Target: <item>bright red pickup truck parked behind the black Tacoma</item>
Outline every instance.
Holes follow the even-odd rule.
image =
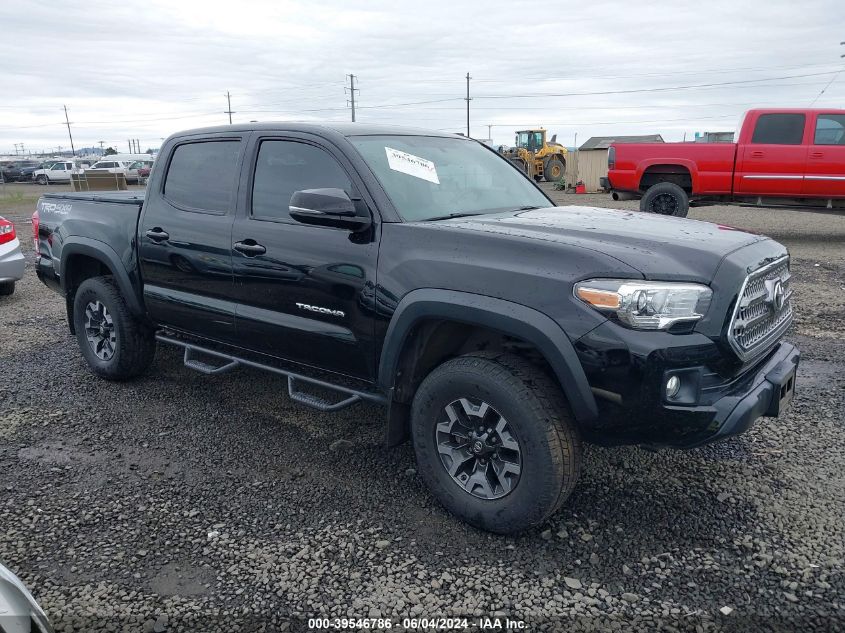
[[[690,200],[845,206],[845,110],[749,110],[736,143],[615,143],[605,188],[640,210]]]

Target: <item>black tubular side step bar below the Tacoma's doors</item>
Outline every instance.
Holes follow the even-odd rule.
[[[304,404],[305,406],[311,407],[312,409],[317,409],[318,411],[338,411],[340,409],[345,409],[346,407],[353,405],[356,402],[361,402],[362,400],[367,400],[369,402],[381,405],[387,404],[387,397],[380,393],[374,393],[371,391],[360,391],[358,389],[352,389],[350,387],[336,385],[330,382],[326,382],[325,380],[319,380],[317,378],[311,378],[310,376],[304,376],[302,374],[298,374],[287,369],[280,369],[278,367],[273,367],[272,365],[265,365],[263,363],[257,363],[252,360],[247,360],[246,358],[240,358],[238,356],[226,354],[225,352],[219,352],[214,349],[209,349],[207,347],[197,345],[196,343],[189,343],[188,341],[183,341],[181,339],[173,338],[171,336],[167,336],[161,333],[156,334],[156,340],[161,343],[166,343],[168,345],[175,345],[176,347],[184,348],[185,367],[198,371],[202,374],[206,374],[208,376],[225,374],[226,372],[229,372],[240,366],[252,367],[253,369],[260,369],[262,371],[268,371],[273,374],[280,374],[282,376],[286,376],[288,379],[288,395],[290,396],[291,400],[299,402],[300,404]],[[200,360],[198,356],[211,356],[213,358],[219,358],[224,362],[221,365],[212,365],[203,360]],[[313,394],[301,391],[297,388],[297,381],[309,385],[315,385],[317,387],[321,387],[322,389],[336,391],[345,395],[346,397],[342,400],[339,400],[338,402],[330,402],[324,398],[321,398],[320,396],[315,396]]]

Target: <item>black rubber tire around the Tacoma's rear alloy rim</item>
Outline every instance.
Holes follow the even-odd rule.
[[[104,306],[111,322],[113,341],[98,352],[89,342],[86,313],[91,306]],[[128,380],[146,371],[155,356],[153,331],[138,321],[129,311],[120,289],[112,277],[92,277],[82,282],[73,300],[73,325],[82,356],[91,370],[107,380]],[[100,331],[103,331],[102,329]],[[109,355],[109,351],[111,354]]]

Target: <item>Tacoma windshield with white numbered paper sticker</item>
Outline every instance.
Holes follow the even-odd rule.
[[[459,138],[353,136],[406,222],[553,204],[498,154]]]

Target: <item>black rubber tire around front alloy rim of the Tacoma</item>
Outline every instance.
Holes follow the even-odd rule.
[[[521,470],[516,482],[511,483],[512,488],[501,496],[479,498],[476,485],[469,483],[477,476],[478,465],[473,467],[467,482],[465,472],[455,478],[441,459],[443,438],[452,441],[457,437],[443,431],[451,417],[447,407],[462,398],[471,405],[487,403],[495,414],[493,422],[487,418],[475,420],[481,419],[482,425],[491,424],[496,429],[496,421],[504,420],[504,428],[511,432],[510,441],[515,439],[518,445]],[[563,393],[555,381],[518,356],[480,354],[446,361],[423,380],[411,412],[411,434],[420,474],[447,510],[478,528],[511,534],[537,526],[560,508],[578,479],[581,441]],[[472,453],[471,440],[467,442],[463,450]],[[503,440],[498,442],[504,450]],[[495,457],[498,456],[496,452]],[[482,463],[485,472],[493,469],[493,459]],[[459,478],[467,483],[460,484]],[[489,475],[485,479],[489,481]],[[473,492],[467,490],[467,485]],[[495,491],[492,486],[488,489]]]

